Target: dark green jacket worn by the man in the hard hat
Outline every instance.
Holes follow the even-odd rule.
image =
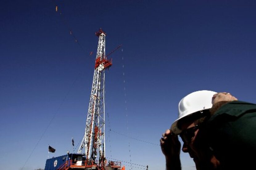
[[[222,169],[256,169],[256,105],[223,105],[206,125],[210,147]]]

